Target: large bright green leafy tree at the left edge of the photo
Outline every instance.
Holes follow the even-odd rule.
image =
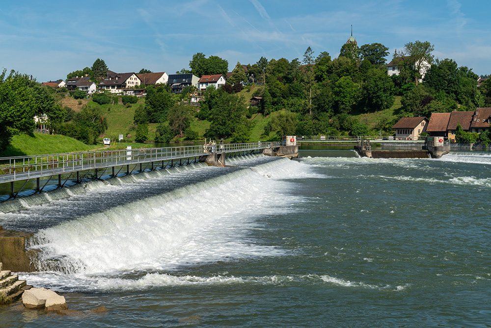
[[[14,135],[30,133],[34,128],[36,101],[27,87],[27,76],[13,70],[5,78],[0,74],[0,151],[3,151]]]

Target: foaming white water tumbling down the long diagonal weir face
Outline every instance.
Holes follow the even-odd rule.
[[[31,247],[42,251],[44,271],[24,278],[63,290],[139,288],[181,284],[171,273],[185,266],[283,256],[249,231],[302,201],[284,179],[308,176],[305,168],[274,161],[43,229]],[[128,274],[139,278],[122,278]]]

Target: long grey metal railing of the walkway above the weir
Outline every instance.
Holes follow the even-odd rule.
[[[118,149],[0,158],[0,183],[113,166],[279,147],[279,142]]]

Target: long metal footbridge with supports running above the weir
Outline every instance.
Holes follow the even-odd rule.
[[[243,144],[209,142],[201,146],[143,149],[128,147],[119,150],[3,157],[0,158],[0,184],[10,183],[10,194],[7,199],[12,199],[19,195],[27,181],[31,179],[36,181],[35,192],[40,193],[52,179],[57,179],[56,186],[61,188],[69,180],[80,183],[89,174],[91,179],[101,179],[105,174],[116,177],[196,162],[225,166],[226,157],[254,153],[281,155],[278,154],[278,149],[282,146],[284,146],[282,142]]]

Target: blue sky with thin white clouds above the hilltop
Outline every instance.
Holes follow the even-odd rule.
[[[63,79],[98,58],[110,70],[141,68],[173,74],[193,54],[253,64],[331,58],[351,35],[358,46],[394,51],[429,41],[436,58],[450,58],[478,75],[491,73],[489,0],[141,0],[1,1],[0,69],[38,82]]]

